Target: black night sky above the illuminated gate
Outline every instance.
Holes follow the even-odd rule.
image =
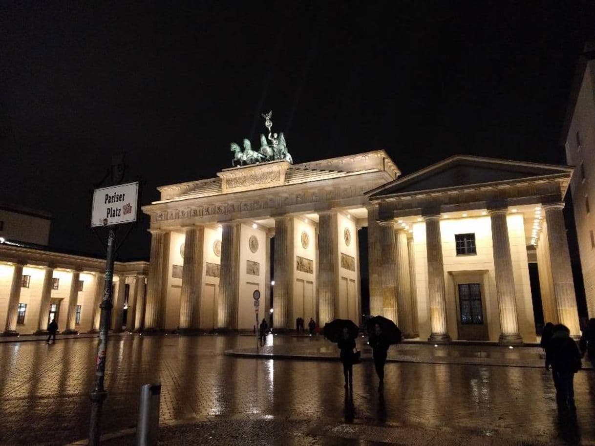
[[[83,4],[84,3],[84,4]],[[0,4],[0,201],[101,253],[89,190],[123,150],[156,186],[214,177],[273,109],[295,162],[386,149],[558,163],[592,2]],[[369,3],[369,4],[365,4]],[[122,258],[148,256],[143,221]]]

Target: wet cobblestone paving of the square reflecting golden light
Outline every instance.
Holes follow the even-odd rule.
[[[275,337],[274,342],[312,341]],[[253,343],[253,338],[245,336],[110,338],[109,396],[102,432],[134,426],[140,386],[161,382],[164,422],[208,417],[224,428],[233,425],[231,420],[308,426],[353,422],[404,429],[447,428],[461,432],[465,444],[465,435],[478,433],[486,438],[531,438],[536,443],[572,438],[595,443],[595,373],[591,370],[575,378],[578,410],[574,426],[558,416],[546,370],[390,363],[381,399],[375,391],[373,366],[363,363],[355,366],[353,403],[346,404],[339,363],[223,355]],[[92,339],[63,340],[53,346],[0,344],[0,444],[61,445],[86,436],[95,346]],[[241,432],[241,425],[237,426],[235,432]],[[300,444],[340,444],[331,442],[332,436],[320,435],[330,442],[308,442],[305,435]],[[437,444],[431,438],[428,441]]]

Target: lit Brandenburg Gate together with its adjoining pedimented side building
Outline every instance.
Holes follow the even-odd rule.
[[[252,330],[255,290],[276,329],[361,321],[367,227],[370,312],[406,337],[534,341],[529,262],[546,321],[578,334],[562,215],[572,168],[453,156],[399,175],[376,150],[159,187],[142,208],[152,241],[137,329]]]

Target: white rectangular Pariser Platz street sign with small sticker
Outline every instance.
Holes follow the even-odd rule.
[[[138,196],[139,183],[95,189],[91,226],[121,225],[136,221]]]

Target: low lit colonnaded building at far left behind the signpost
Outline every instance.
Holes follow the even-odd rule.
[[[148,262],[115,262],[111,315],[114,332],[142,326],[148,266]],[[62,333],[98,331],[104,284],[105,259],[2,238],[1,334],[45,333],[54,319]]]

